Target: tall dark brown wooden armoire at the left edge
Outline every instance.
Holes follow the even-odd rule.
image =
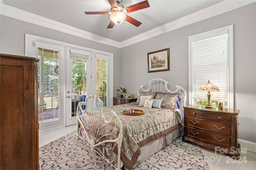
[[[38,170],[38,59],[0,54],[0,169]]]

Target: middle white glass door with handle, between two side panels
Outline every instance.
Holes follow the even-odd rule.
[[[76,107],[91,94],[91,52],[66,47],[66,126],[76,124]]]

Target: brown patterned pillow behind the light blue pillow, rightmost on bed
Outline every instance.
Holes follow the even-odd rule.
[[[166,93],[158,92],[156,94],[155,99],[163,99],[161,107],[175,109],[175,105],[179,95],[180,94],[166,94]]]

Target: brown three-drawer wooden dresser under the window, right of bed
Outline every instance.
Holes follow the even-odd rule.
[[[204,106],[184,106],[184,135],[182,140],[239,158],[237,142],[238,109],[220,110]]]

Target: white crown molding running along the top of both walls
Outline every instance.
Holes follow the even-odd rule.
[[[72,27],[70,25],[66,25],[64,23],[50,20],[48,18],[44,18],[42,16],[38,16],[38,15],[32,14],[30,12],[26,12],[24,10],[20,10],[20,9],[14,8],[12,6],[8,6],[8,5],[4,4],[2,0],[0,0],[0,6],[1,6],[0,14],[4,15],[4,16],[11,17],[11,18],[15,18],[18,20],[33,23],[36,25],[40,25],[43,27],[47,27],[50,29],[54,29],[57,31],[61,31],[64,33],[68,33],[68,34],[71,34],[71,35],[74,35],[77,37],[82,37],[84,39],[88,39],[91,41],[96,41],[98,43],[110,45],[110,46],[117,47],[117,48],[122,48],[122,47],[126,47],[128,45],[132,45],[134,43],[138,43],[140,41],[144,41],[146,39],[150,39],[157,35],[161,35],[163,33],[169,32],[169,31],[173,31],[180,27],[184,27],[186,25],[196,23],[198,21],[202,21],[207,18],[217,16],[219,14],[223,14],[230,10],[234,10],[234,9],[240,8],[242,6],[246,6],[246,5],[254,3],[254,2],[256,2],[256,0],[224,0],[222,2],[214,4],[207,8],[204,8],[202,10],[199,10],[197,12],[194,12],[192,14],[189,14],[187,16],[179,18],[177,20],[166,23],[160,27],[151,29],[150,31],[147,31],[140,35],[136,35],[136,36],[134,36],[130,39],[124,40],[122,42],[114,41],[112,39],[108,39],[108,38],[90,33],[88,31],[84,31],[82,29],[78,29],[78,28]]]

